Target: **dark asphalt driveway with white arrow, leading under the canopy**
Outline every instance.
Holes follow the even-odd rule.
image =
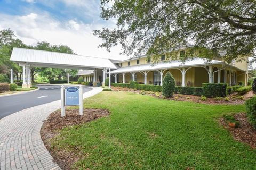
[[[0,119],[23,109],[60,100],[60,85],[40,85],[40,89],[25,94],[0,97]],[[65,86],[69,87],[69,86]],[[83,92],[91,88],[84,87]]]

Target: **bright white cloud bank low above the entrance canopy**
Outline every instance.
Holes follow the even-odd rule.
[[[124,60],[127,56],[119,55],[121,47],[117,46],[107,52],[98,48],[100,38],[93,36],[92,30],[103,27],[99,24],[84,24],[76,19],[65,23],[53,19],[47,13],[30,13],[23,16],[12,16],[0,13],[0,30],[11,28],[25,44],[36,45],[38,41],[47,41],[52,45],[67,45],[76,54],[114,58]]]

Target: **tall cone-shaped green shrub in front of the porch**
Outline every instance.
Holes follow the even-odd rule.
[[[175,91],[175,80],[170,72],[167,72],[163,79],[163,96],[172,97]]]

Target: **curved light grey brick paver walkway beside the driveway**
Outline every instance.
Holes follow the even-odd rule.
[[[102,88],[93,88],[83,98]],[[28,101],[29,102],[29,101]],[[0,106],[1,107],[1,106]],[[60,169],[41,139],[43,121],[60,108],[60,100],[31,107],[0,120],[0,169]]]

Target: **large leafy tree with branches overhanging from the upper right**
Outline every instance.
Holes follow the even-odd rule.
[[[94,30],[108,51],[122,45],[127,55],[162,54],[189,47],[192,56],[228,62],[250,56],[256,46],[256,2],[248,0],[101,0],[101,17],[117,28]],[[193,44],[190,46],[187,42]],[[167,55],[170,59],[177,55]]]

